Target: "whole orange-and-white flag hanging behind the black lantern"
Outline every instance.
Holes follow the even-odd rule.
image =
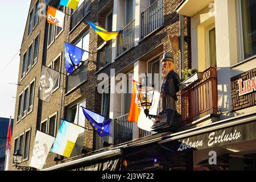
[[[149,94],[149,93],[148,93]],[[160,93],[157,90],[154,90],[154,96],[152,98],[152,105],[149,109],[150,114],[156,115],[158,111]],[[131,106],[128,121],[137,122],[137,126],[146,131],[151,131],[151,127],[154,125],[154,120],[146,117],[144,109],[141,106],[139,99],[139,90],[137,84],[133,82],[133,93],[131,96]]]

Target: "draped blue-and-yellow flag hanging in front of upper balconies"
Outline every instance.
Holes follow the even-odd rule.
[[[105,41],[111,40],[113,39],[115,36],[117,36],[119,34],[119,32],[121,30],[118,31],[108,31],[105,30],[104,28],[97,26],[97,24],[94,24],[92,22],[90,22],[89,20],[85,20],[92,28],[93,30],[101,36],[101,38]]]

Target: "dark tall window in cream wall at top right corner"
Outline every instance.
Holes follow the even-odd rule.
[[[256,55],[256,1],[241,1],[242,16],[242,59]]]

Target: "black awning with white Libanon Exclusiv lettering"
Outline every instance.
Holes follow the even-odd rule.
[[[169,135],[159,144],[168,146],[172,151],[190,151],[222,146],[225,144],[256,139],[256,114],[231,121],[213,123],[204,129],[180,135]]]

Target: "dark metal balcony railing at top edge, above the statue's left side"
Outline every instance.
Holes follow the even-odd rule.
[[[163,0],[158,0],[141,14],[141,38],[163,24]]]

